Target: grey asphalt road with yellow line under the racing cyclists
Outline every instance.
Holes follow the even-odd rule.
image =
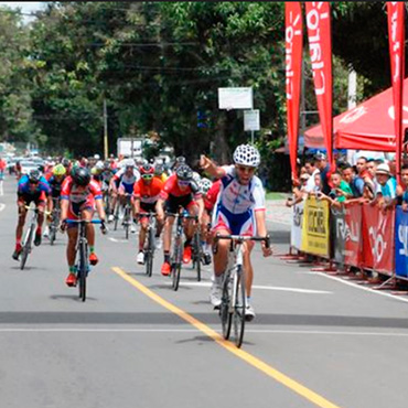
[[[66,237],[44,240],[21,271],[11,258],[15,181],[0,196],[0,407],[211,406],[405,408],[408,297],[374,292],[257,247],[254,307],[241,350],[221,337],[211,269],[178,292],[136,265],[136,236],[97,234],[85,303],[67,288]],[[273,211],[273,210],[271,210]],[[268,227],[275,250],[289,226]]]

